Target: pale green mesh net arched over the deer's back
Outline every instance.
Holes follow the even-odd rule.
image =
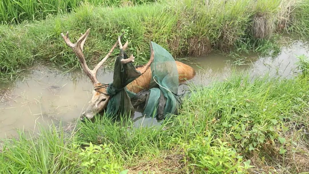
[[[177,107],[178,70],[172,55],[160,45],[151,42],[154,50],[154,61],[151,64],[152,78],[150,81],[150,96],[144,114],[155,117],[162,108],[159,106],[161,93],[166,98],[163,116],[174,114]]]

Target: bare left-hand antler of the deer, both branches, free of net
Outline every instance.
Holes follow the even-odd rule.
[[[87,76],[91,79],[91,82],[93,84],[95,83],[99,83],[98,79],[96,78],[96,74],[99,70],[99,68],[103,65],[103,63],[106,61],[106,59],[112,54],[112,52],[114,51],[114,49],[116,48],[117,44],[119,43],[119,41],[117,41],[112,49],[108,52],[108,54],[94,67],[93,70],[90,70],[86,64],[85,61],[85,56],[83,54],[83,47],[85,44],[85,41],[87,39],[87,36],[89,35],[90,32],[90,28],[85,32],[85,34],[81,34],[80,38],[77,40],[77,42],[75,44],[73,44],[70,39],[69,39],[69,32],[66,32],[66,36],[64,36],[63,33],[61,33],[61,36],[63,37],[64,41],[66,42],[66,44],[71,47],[74,51],[74,53],[76,54],[76,56],[79,59],[79,62],[82,65],[83,71],[87,74]],[[122,33],[121,36],[118,37],[118,40],[120,40],[120,38],[124,35],[125,32]],[[127,44],[127,43],[126,43]],[[127,46],[127,45],[125,45]],[[122,45],[121,45],[122,47]]]

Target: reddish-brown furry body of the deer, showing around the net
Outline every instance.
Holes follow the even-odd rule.
[[[193,79],[195,76],[195,70],[182,62],[176,61],[178,75],[179,75],[179,83],[184,83],[187,80]],[[138,66],[136,70],[142,69],[143,66]],[[129,91],[134,93],[138,93],[143,89],[148,89],[151,79],[151,69],[148,68],[144,74],[142,74],[139,78],[130,83],[127,88]]]

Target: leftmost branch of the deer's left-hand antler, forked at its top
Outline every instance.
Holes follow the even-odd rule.
[[[93,84],[95,84],[95,83],[99,83],[99,81],[96,78],[96,74],[94,74],[88,68],[86,61],[85,61],[84,54],[83,54],[83,47],[84,47],[85,41],[87,39],[87,36],[89,35],[89,32],[90,32],[90,28],[85,32],[85,34],[83,34],[82,36],[79,37],[79,39],[77,40],[77,42],[75,44],[73,44],[70,41],[69,32],[66,32],[66,36],[64,36],[63,33],[61,33],[61,36],[64,39],[64,41],[66,42],[66,44],[73,49],[74,53],[76,54],[76,56],[79,59],[79,62],[81,63],[81,66],[82,66],[84,72],[90,78],[91,82]]]

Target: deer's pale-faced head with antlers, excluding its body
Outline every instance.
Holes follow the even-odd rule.
[[[121,36],[118,36],[117,42],[114,44],[112,49],[109,51],[109,53],[94,67],[93,70],[90,70],[89,67],[86,64],[85,56],[83,54],[83,47],[85,44],[85,41],[87,39],[87,36],[89,35],[90,28],[85,32],[85,34],[81,34],[80,38],[77,40],[75,44],[73,44],[69,39],[69,32],[66,33],[66,36],[61,33],[61,36],[63,37],[65,43],[71,47],[76,54],[76,56],[79,59],[79,62],[81,63],[83,71],[87,74],[87,76],[90,78],[94,89],[92,91],[92,98],[89,101],[88,108],[83,112],[81,116],[81,120],[83,120],[85,117],[91,119],[96,113],[99,113],[104,110],[104,108],[107,107],[108,101],[110,99],[110,95],[106,92],[106,87],[108,85],[104,85],[99,83],[98,79],[96,78],[96,74],[99,70],[99,68],[103,65],[103,63],[106,61],[106,59],[112,54],[113,50],[116,48],[116,46],[119,44],[120,49],[126,49],[128,46],[128,41],[125,43],[125,45],[122,46],[121,44]],[[128,59],[122,59],[121,63],[129,63],[134,62],[133,55],[130,56]]]

